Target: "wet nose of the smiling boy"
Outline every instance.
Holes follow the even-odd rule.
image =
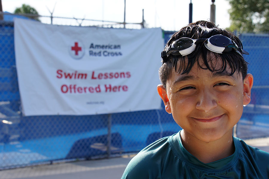
[[[211,109],[217,107],[217,101],[214,94],[208,90],[201,92],[201,95],[198,95],[198,102],[196,104],[196,109],[203,110],[205,112],[210,111]]]

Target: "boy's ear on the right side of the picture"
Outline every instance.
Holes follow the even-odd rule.
[[[244,91],[243,91],[243,105],[250,103],[251,88],[253,85],[253,76],[248,73],[243,81]]]

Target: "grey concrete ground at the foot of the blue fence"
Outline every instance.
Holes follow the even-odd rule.
[[[269,152],[269,138],[244,140]],[[135,155],[91,161],[77,161],[0,171],[0,179],[119,179]]]

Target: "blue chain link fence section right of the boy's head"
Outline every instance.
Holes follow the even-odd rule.
[[[269,136],[269,34],[242,34],[248,72],[254,77],[251,101],[237,124],[237,137],[242,139]]]

